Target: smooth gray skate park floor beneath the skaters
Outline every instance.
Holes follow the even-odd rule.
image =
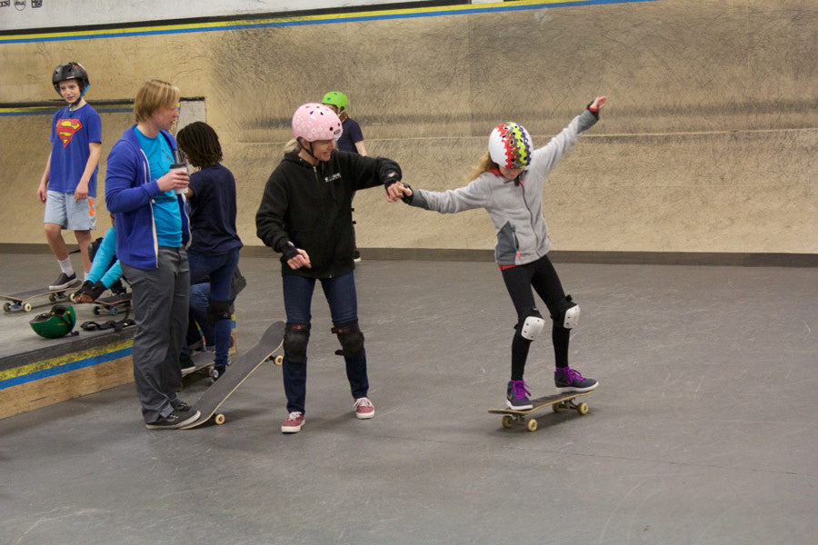
[[[0,263],[0,289],[55,268]],[[20,266],[25,263],[25,269]],[[284,319],[278,263],[243,259],[239,352]],[[818,272],[558,264],[583,307],[587,416],[504,430],[514,312],[491,263],[364,261],[372,421],[356,421],[314,298],[307,420],[280,368],[228,421],[147,431],[133,385],[0,421],[3,543],[818,542]],[[85,311],[83,311],[85,312]],[[0,317],[0,341],[30,335]],[[553,388],[550,341],[526,381]],[[184,397],[195,399],[205,381]]]

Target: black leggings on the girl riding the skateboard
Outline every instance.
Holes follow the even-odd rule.
[[[536,309],[531,288],[534,287],[534,291],[543,299],[551,315],[556,314],[554,308],[558,302],[565,299],[565,292],[560,277],[557,276],[554,265],[547,255],[534,263],[504,269],[503,281],[517,311],[517,326],[512,341],[512,381],[522,381],[531,341],[520,334],[520,329],[526,316],[530,316]],[[562,323],[554,322],[551,339],[554,342],[554,362],[557,367],[568,367],[570,335],[571,331],[565,329]]]

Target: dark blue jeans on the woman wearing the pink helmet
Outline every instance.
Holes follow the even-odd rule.
[[[329,303],[333,323],[354,322],[358,319],[358,298],[355,293],[354,273],[338,278],[321,278],[324,297]],[[315,289],[314,278],[286,275],[282,278],[284,287],[284,309],[287,324],[308,324],[312,318],[310,306]],[[369,391],[366,376],[366,351],[358,356],[344,356],[346,378],[355,399],[365,397]],[[284,394],[287,396],[287,411],[304,412],[306,401],[306,358],[304,362],[290,362],[284,355],[282,364]]]

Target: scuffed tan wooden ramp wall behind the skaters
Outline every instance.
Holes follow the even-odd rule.
[[[555,250],[818,252],[818,5],[547,7],[5,43],[0,63],[14,77],[0,95],[7,103],[55,98],[47,74],[67,55],[89,70],[92,104],[133,98],[150,77],[204,97],[252,251],[254,213],[290,116],[325,91],[350,97],[371,154],[394,158],[407,183],[430,190],[468,180],[495,124],[524,124],[535,145],[545,144],[605,94],[601,123],[546,185]],[[104,155],[130,123],[127,114],[103,114]],[[46,137],[47,116],[0,117],[0,190],[10,197],[0,203],[0,243],[43,243],[35,190]],[[359,193],[354,207],[364,249],[494,247],[482,211],[387,205],[380,190]]]

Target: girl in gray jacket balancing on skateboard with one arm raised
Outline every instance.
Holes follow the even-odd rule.
[[[591,391],[594,379],[568,366],[568,341],[579,320],[580,308],[566,295],[548,259],[551,240],[543,217],[543,188],[546,175],[570,150],[580,134],[599,119],[605,103],[598,96],[585,111],[574,117],[548,144],[533,149],[531,136],[522,125],[504,123],[489,136],[489,151],[478,164],[474,179],[464,187],[446,192],[413,190],[399,183],[404,202],[439,213],[457,213],[485,208],[494,222],[497,244],[494,258],[503,274],[505,287],[517,311],[512,341],[511,381],[506,388],[510,409],[531,409],[523,373],[531,342],[545,329],[532,288],[545,302],[553,321],[554,385],[559,391]]]

